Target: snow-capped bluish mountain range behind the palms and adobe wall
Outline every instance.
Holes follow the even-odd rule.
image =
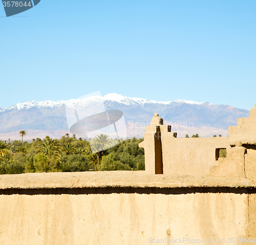
[[[196,128],[211,127],[228,129],[236,125],[237,118],[249,117],[249,111],[229,105],[215,105],[208,102],[175,100],[157,102],[140,98],[129,98],[118,94],[93,96],[82,100],[29,101],[9,108],[0,107],[0,133],[15,130],[69,130],[65,107],[75,103],[94,108],[103,103],[106,109],[121,110],[126,124],[148,124],[154,113],[164,121],[176,125],[193,125]],[[171,124],[172,125],[172,124]]]

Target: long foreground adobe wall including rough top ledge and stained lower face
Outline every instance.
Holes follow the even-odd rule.
[[[256,236],[250,179],[27,173],[2,175],[0,188],[0,244],[223,244]]]

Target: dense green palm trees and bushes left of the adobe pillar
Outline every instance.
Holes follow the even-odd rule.
[[[32,143],[1,140],[0,174],[145,169],[144,149],[138,147],[143,139],[127,139],[105,149],[115,141],[99,135],[90,144],[68,133],[60,140],[46,137]]]

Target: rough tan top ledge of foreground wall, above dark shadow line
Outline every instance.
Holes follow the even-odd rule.
[[[93,187],[255,187],[254,179],[240,176],[191,176],[144,171],[23,173],[0,175],[0,190]]]

